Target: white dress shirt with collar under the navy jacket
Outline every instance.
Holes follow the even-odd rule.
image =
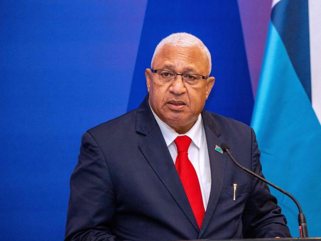
[[[161,121],[161,119],[155,114],[153,110],[152,113],[161,128],[161,133],[165,139],[169,153],[175,163],[177,157],[177,148],[174,140],[177,136],[180,136],[180,134],[174,131],[165,122]],[[204,209],[206,210],[211,189],[211,172],[209,166],[206,136],[201,114],[199,115],[193,127],[183,135],[187,135],[192,139],[191,145],[188,149],[188,158],[192,162],[199,178]]]

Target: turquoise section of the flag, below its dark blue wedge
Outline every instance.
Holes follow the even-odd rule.
[[[271,22],[267,44],[252,118],[264,173],[301,203],[309,236],[320,236],[321,126]],[[272,192],[292,236],[299,237],[296,206],[283,194]]]

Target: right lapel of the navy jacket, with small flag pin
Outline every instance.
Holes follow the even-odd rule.
[[[216,127],[214,119],[205,111],[202,112],[203,126],[206,135],[206,143],[208,149],[208,157],[211,171],[211,191],[209,200],[199,233],[199,239],[206,230],[208,223],[213,215],[215,207],[217,205],[220,193],[223,188],[223,179],[226,167],[226,157],[221,153],[215,151],[215,145],[221,145],[221,138],[219,129]]]

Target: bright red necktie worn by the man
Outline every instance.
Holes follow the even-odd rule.
[[[177,147],[177,158],[175,167],[183,184],[186,196],[196,221],[201,229],[205,209],[203,205],[200,182],[197,177],[193,164],[188,159],[188,148],[191,144],[191,138],[188,136],[178,136],[174,142]]]

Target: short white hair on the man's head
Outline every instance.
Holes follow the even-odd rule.
[[[151,66],[154,64],[154,59],[158,55],[158,53],[161,51],[161,48],[165,45],[171,45],[171,46],[179,46],[179,47],[192,47],[197,46],[200,48],[201,52],[203,53],[203,56],[206,59],[207,67],[208,67],[208,75],[211,73],[212,69],[212,61],[211,61],[211,54],[208,51],[208,48],[205,46],[205,44],[194,35],[188,34],[188,33],[175,33],[167,36],[166,38],[162,39],[160,43],[156,46],[154,55],[152,58]]]

